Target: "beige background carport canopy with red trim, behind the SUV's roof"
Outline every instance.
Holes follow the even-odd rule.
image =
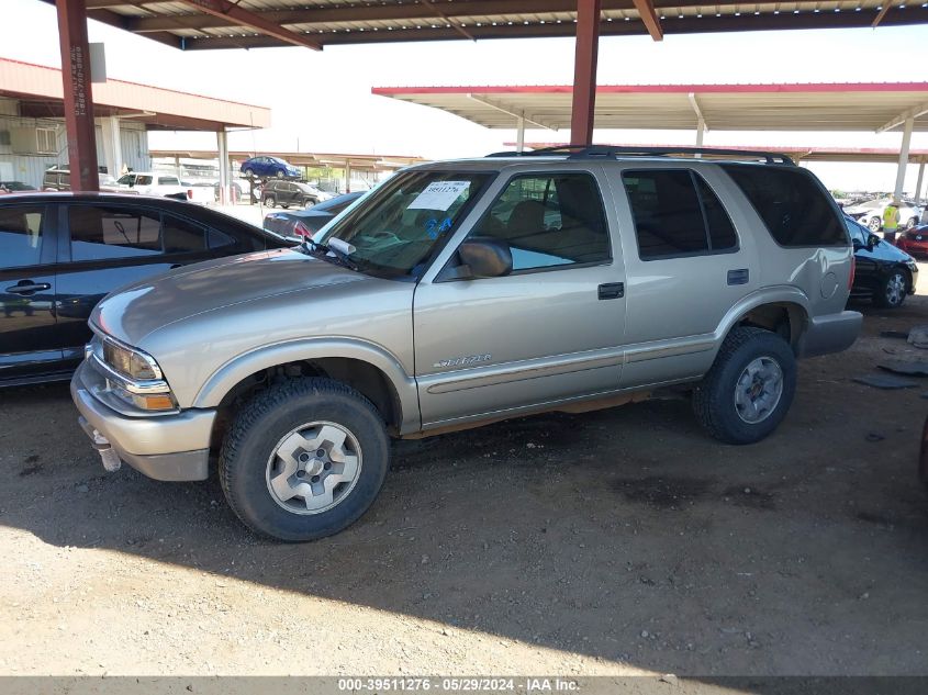
[[[570,127],[571,86],[374,87],[372,93],[454,113],[490,128]],[[601,85],[597,128],[928,131],[928,82]]]

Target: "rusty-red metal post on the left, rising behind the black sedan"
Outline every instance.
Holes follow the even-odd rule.
[[[93,93],[90,89],[90,47],[87,44],[87,3],[85,0],[57,0],[56,7],[71,190],[99,191]]]

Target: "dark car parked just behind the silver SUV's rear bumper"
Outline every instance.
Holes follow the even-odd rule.
[[[915,294],[918,264],[859,222],[847,216],[845,221],[854,247],[851,299],[872,299],[885,309],[902,306],[907,294]]]

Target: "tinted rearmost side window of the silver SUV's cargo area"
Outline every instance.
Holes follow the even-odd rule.
[[[798,167],[719,165],[781,246],[847,246],[848,233],[825,192]]]

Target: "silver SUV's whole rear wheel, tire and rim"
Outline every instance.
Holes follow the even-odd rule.
[[[700,424],[726,444],[760,441],[786,416],[796,391],[796,358],[775,333],[738,326],[693,392]]]

